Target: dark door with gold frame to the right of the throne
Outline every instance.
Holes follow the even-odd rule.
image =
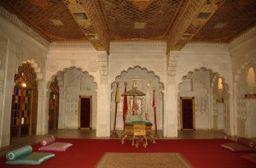
[[[180,127],[195,130],[195,97],[180,97]]]

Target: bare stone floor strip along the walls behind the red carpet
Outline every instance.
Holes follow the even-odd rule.
[[[116,131],[118,137],[122,135],[122,130]],[[163,136],[162,132],[156,132],[157,137],[160,139],[166,139]],[[155,132],[153,132],[155,135]],[[20,137],[14,139],[10,142],[10,145],[7,147],[0,148],[0,156],[7,154],[10,150],[15,148],[20,148],[27,144],[35,144],[41,142],[46,137],[55,136],[62,138],[91,138],[91,139],[110,139],[111,137],[96,137],[96,130],[89,129],[64,129],[64,130],[51,130],[47,135],[44,136],[29,136],[29,137]],[[234,139],[235,137],[227,137],[223,132],[218,131],[193,131],[193,130],[183,130],[177,132],[177,137],[168,138],[168,139],[212,139],[212,138],[230,138]],[[156,138],[157,139],[157,138]]]

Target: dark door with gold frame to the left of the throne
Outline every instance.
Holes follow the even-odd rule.
[[[92,128],[92,97],[79,96],[79,129]]]

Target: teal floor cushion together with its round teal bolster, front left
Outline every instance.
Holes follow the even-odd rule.
[[[32,152],[32,146],[26,145],[6,154],[8,165],[40,165],[45,160],[53,158],[55,154]]]

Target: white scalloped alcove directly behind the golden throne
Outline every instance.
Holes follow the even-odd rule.
[[[147,118],[153,124],[153,129],[156,127],[158,130],[163,129],[164,120],[164,105],[163,105],[163,93],[164,84],[160,82],[160,77],[156,76],[153,71],[149,71],[146,68],[135,66],[129,68],[127,71],[122,71],[119,76],[116,76],[115,81],[119,82],[119,104],[117,105],[117,116],[116,116],[116,129],[122,130],[124,127],[123,118],[123,106],[124,97],[120,96],[125,92],[125,82],[127,82],[127,91],[132,89],[134,82],[137,83],[137,90],[144,92],[146,96],[137,97],[137,115],[143,115],[145,118],[145,111],[148,110]],[[115,81],[111,84],[112,90],[116,91]],[[149,85],[148,85],[149,84]],[[155,91],[155,92],[153,92]],[[148,98],[147,98],[148,95]],[[155,95],[155,109],[156,109],[156,122],[154,121],[154,108],[152,106],[153,97]],[[148,99],[148,104],[147,104]],[[128,114],[131,115],[133,98],[127,98]],[[149,107],[147,107],[149,106]],[[111,100],[111,128],[114,125],[114,112],[115,112],[115,92],[112,93]]]

